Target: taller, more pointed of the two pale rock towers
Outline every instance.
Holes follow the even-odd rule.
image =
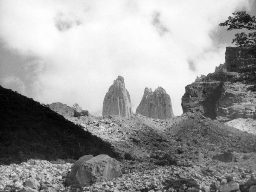
[[[122,76],[118,76],[109,87],[103,101],[102,116],[118,115],[131,117],[131,98],[128,90],[125,89],[125,81]]]

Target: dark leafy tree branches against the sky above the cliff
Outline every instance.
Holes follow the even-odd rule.
[[[227,30],[231,31],[233,29],[247,29],[248,34],[245,32],[237,33],[236,38],[233,39],[232,43],[236,42],[236,45],[246,46],[252,45],[256,46],[256,18],[255,16],[250,16],[246,12],[234,12],[234,17],[228,17],[224,23],[220,23],[219,26],[228,26]]]

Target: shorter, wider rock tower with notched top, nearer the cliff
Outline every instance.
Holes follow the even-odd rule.
[[[154,119],[172,117],[171,98],[163,87],[158,87],[154,92],[146,87],[140,105],[136,109],[136,113]]]

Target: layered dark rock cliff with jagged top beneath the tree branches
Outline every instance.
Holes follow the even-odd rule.
[[[226,61],[200,81],[185,87],[183,112],[227,122],[256,119],[256,54],[252,47],[227,47]]]

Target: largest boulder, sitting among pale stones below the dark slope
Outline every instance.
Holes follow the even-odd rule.
[[[83,156],[76,161],[67,176],[67,185],[88,186],[94,182],[108,181],[122,175],[121,165],[117,160],[106,154],[91,157],[90,155]]]

